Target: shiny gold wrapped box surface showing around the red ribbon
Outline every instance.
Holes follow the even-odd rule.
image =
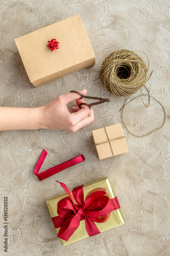
[[[116,197],[112,184],[110,183],[109,178],[106,177],[106,178],[96,180],[94,182],[90,182],[83,186],[84,200],[93,192],[101,191],[101,190],[105,191],[106,196],[108,196],[110,199]],[[72,190],[69,190],[69,191],[71,192]],[[68,198],[68,195],[66,194],[66,192],[59,194],[57,196],[51,197],[46,201],[49,212],[51,214],[51,218],[58,216],[57,204],[63,198]],[[106,222],[103,222],[103,223],[94,222],[94,223],[96,224],[100,232],[103,232],[108,229],[124,224],[124,218],[123,218],[121,208],[111,211],[110,217]],[[60,228],[56,228],[56,230],[58,233]],[[81,240],[86,237],[89,237],[89,235],[86,230],[85,220],[81,220],[79,227],[74,231],[74,233],[71,235],[68,241],[65,241],[60,238],[60,242],[62,246],[65,246],[67,244],[73,243],[75,241]]]

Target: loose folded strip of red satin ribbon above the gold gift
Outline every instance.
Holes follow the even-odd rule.
[[[62,164],[56,165],[42,173],[38,173],[43,162],[44,162],[44,159],[46,158],[46,155],[47,155],[47,151],[44,149],[40,156],[40,159],[38,160],[37,165],[35,166],[35,170],[34,170],[34,174],[38,177],[38,179],[40,181],[85,160],[84,156],[80,155],[80,156],[74,157],[74,158],[70,159],[69,161],[66,161]]]

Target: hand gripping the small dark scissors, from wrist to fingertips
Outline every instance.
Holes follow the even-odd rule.
[[[79,92],[86,95],[87,90]],[[40,107],[40,128],[76,132],[83,126],[93,122],[93,109],[89,109],[86,105],[82,105],[80,109],[79,104],[86,103],[82,99],[79,100],[80,97],[79,94],[70,92],[60,95]],[[77,107],[73,106],[71,109],[74,113],[70,113],[67,104],[73,100],[76,100]]]

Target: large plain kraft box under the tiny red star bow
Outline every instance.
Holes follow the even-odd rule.
[[[59,49],[51,51],[47,45],[53,38],[59,42]],[[14,40],[35,87],[95,64],[79,14]]]

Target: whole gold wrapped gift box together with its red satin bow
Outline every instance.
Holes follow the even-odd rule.
[[[60,185],[66,192],[49,198],[47,206],[62,246],[124,224],[108,177],[72,190]]]

